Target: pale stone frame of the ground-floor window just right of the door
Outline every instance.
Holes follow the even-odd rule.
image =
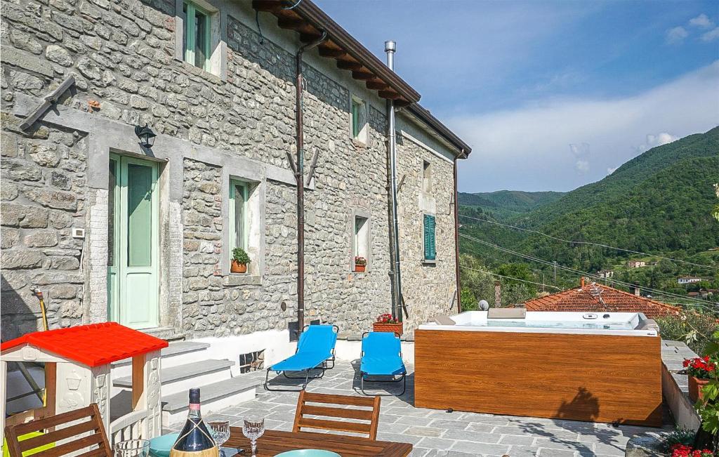
[[[247,265],[247,273],[232,273],[229,271],[230,260],[232,259],[232,242],[230,236],[232,231],[227,229],[222,231],[222,251],[220,272],[223,276],[223,284],[226,286],[234,285],[262,285],[262,277],[265,273],[265,205],[266,205],[266,188],[267,180],[263,177],[255,175],[250,170],[245,170],[241,166],[225,163],[222,167],[222,225],[229,228],[231,221],[230,204],[230,184],[233,181],[241,181],[247,186],[245,201],[246,221],[245,228],[247,231],[246,245],[244,250],[247,251],[249,262]]]

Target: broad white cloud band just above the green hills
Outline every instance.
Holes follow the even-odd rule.
[[[719,60],[635,96],[546,98],[448,119],[473,149],[459,162],[460,188],[571,190],[599,180],[605,170],[635,157],[638,144],[670,142],[719,124],[718,86]],[[592,145],[591,157],[567,151],[567,144],[582,143]],[[577,175],[581,170],[586,174]]]

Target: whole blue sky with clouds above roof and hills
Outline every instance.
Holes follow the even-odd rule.
[[[315,0],[474,152],[459,189],[571,190],[719,124],[719,2]]]

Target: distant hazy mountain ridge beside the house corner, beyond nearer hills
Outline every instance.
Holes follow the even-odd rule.
[[[552,203],[563,192],[523,192],[522,190],[497,190],[496,192],[459,193],[459,204],[475,206],[492,213],[496,218],[511,218],[528,213],[539,206]]]

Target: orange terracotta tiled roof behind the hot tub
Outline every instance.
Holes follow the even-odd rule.
[[[597,293],[601,291],[600,294]],[[592,290],[594,289],[594,290]],[[600,302],[602,298],[604,305]],[[681,308],[651,298],[638,297],[607,285],[587,284],[544,297],[528,300],[528,311],[611,311],[614,313],[644,313],[648,318],[678,314]]]

